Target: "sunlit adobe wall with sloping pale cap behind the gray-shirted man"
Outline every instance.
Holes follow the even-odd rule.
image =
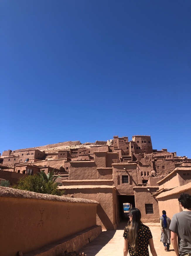
[[[178,202],[178,197],[181,193],[191,195],[191,182],[181,187],[176,187],[170,191],[162,192],[156,197],[156,200],[158,200],[160,215],[162,214],[162,211],[165,210],[166,215],[172,219],[175,213],[182,211]]]

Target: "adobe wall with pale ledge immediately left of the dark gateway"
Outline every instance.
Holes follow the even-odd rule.
[[[115,205],[117,207],[116,190],[112,186],[63,186],[64,196],[74,198],[86,198],[96,200],[100,204],[97,207],[97,225],[102,225],[103,229],[114,230],[117,228],[118,217],[115,217]]]

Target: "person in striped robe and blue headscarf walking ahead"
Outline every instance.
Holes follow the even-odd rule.
[[[168,251],[170,248],[170,218],[166,216],[166,211],[162,211],[163,215],[160,217],[161,224],[161,242],[163,242],[164,250]]]

